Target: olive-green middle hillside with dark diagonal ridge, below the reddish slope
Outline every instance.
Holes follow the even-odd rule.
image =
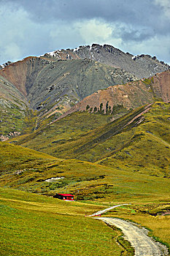
[[[111,122],[109,115],[73,113],[14,142],[59,158],[169,177],[169,117],[169,104],[164,102]]]

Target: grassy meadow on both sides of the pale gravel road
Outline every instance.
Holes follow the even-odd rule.
[[[0,255],[131,255],[120,230],[85,217],[106,204],[109,202],[66,202],[0,188]],[[166,202],[132,203],[105,215],[139,223],[150,230],[150,236],[169,246],[170,217],[161,215],[169,208]]]

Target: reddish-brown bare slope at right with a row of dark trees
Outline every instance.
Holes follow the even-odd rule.
[[[151,78],[142,79],[124,85],[109,86],[85,97],[73,108],[63,113],[63,118],[77,111],[115,113],[119,110],[138,108],[154,102],[155,99],[170,102],[170,71],[156,74]]]

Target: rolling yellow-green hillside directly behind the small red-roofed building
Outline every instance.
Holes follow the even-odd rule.
[[[169,197],[168,178],[116,170],[77,159],[56,159],[7,143],[1,143],[0,148],[2,187],[44,195],[69,192],[74,193],[78,200],[101,202],[154,202]],[[46,181],[50,178],[58,179]]]

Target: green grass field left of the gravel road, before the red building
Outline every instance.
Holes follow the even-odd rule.
[[[99,208],[0,189],[0,255],[120,255],[117,232],[85,217]]]

